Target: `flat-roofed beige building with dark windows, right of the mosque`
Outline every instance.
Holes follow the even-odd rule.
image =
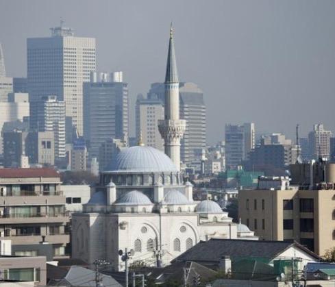
[[[288,177],[261,177],[256,190],[240,190],[242,222],[260,240],[296,240],[323,255],[335,246],[335,164],[327,169],[329,184],[290,186]]]

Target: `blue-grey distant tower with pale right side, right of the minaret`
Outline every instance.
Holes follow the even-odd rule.
[[[235,168],[255,148],[255,124],[225,125],[225,165]]]

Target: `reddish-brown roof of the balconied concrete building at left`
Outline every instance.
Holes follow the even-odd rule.
[[[55,169],[0,169],[0,178],[18,177],[60,177]]]

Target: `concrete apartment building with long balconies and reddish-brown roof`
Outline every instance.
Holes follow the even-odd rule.
[[[53,169],[0,169],[0,238],[12,240],[16,252],[39,255],[39,242],[45,236],[54,258],[65,255],[69,216],[60,184]]]

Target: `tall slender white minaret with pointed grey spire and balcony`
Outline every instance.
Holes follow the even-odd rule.
[[[164,149],[177,169],[180,169],[180,139],[185,132],[186,121],[179,119],[179,81],[173,44],[171,24],[169,51],[165,74],[164,120],[159,121],[158,129],[164,139]]]

